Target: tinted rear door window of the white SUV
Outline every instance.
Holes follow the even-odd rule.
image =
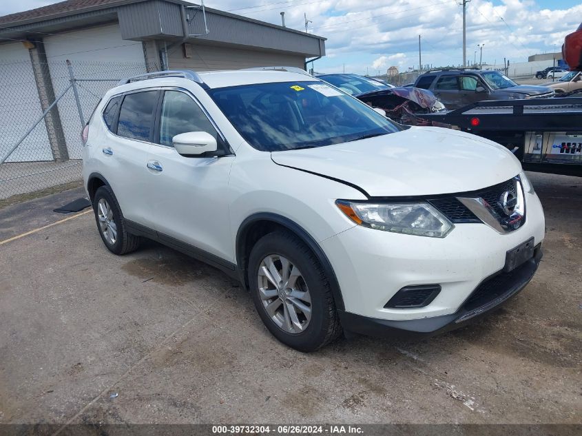
[[[149,141],[154,126],[154,109],[158,91],[127,94],[121,103],[117,134],[126,138]]]

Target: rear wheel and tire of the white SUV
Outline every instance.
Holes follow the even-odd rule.
[[[127,231],[121,208],[110,187],[101,186],[93,198],[93,211],[101,240],[114,254],[135,251],[140,242],[139,236]]]

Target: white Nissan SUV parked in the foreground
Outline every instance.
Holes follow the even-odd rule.
[[[83,177],[107,249],[141,237],[240,279],[278,340],[423,336],[520,291],[541,204],[508,149],[397,125],[308,74],[122,81],[87,127]]]

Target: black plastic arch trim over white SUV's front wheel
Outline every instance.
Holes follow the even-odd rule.
[[[331,262],[329,262],[329,259],[318,242],[315,241],[309,232],[293,220],[271,212],[263,212],[249,216],[242,222],[236,233],[236,264],[240,272],[240,280],[245,284],[245,287],[249,287],[247,267],[252,247],[262,236],[278,229],[293,233],[313,251],[329,280],[335,306],[337,309],[344,310],[344,299],[342,298],[340,284],[337,282],[337,277],[335,276],[333,267],[331,267]]]

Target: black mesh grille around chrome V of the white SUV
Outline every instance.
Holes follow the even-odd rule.
[[[512,178],[506,180],[503,183],[488,187],[485,189],[480,189],[479,191],[464,192],[462,194],[455,194],[454,196],[442,196],[438,198],[432,198],[428,200],[428,203],[439,209],[444,216],[446,216],[450,222],[481,222],[475,214],[472,213],[465,205],[463,205],[457,197],[468,197],[468,198],[483,198],[492,207],[499,216],[505,216],[503,209],[497,204],[499,202],[499,197],[505,191],[511,191],[513,194],[517,195],[515,191],[515,183]]]

